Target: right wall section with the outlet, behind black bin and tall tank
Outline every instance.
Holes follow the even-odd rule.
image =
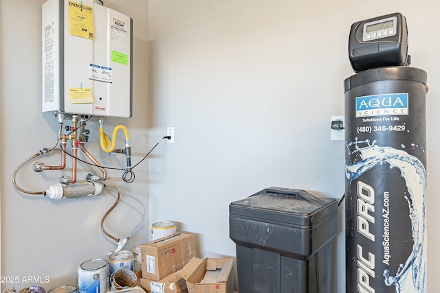
[[[428,72],[428,291],[440,254],[437,144],[438,1],[149,1],[150,143],[166,126],[175,143],[149,165],[151,222],[199,234],[202,257],[234,257],[228,204],[266,187],[344,193],[344,114],[351,24],[401,12],[412,66]],[[333,242],[333,292],[344,292],[342,218]]]

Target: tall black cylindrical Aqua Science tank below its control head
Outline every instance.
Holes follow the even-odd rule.
[[[347,293],[427,292],[426,80],[398,65],[344,81]]]

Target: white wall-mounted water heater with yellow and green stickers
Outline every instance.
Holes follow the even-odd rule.
[[[92,0],[42,8],[43,112],[131,117],[133,20]]]

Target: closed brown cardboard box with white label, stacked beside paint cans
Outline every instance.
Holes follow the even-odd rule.
[[[174,233],[167,237],[141,244],[142,278],[160,281],[183,268],[192,257],[197,257],[194,235]]]

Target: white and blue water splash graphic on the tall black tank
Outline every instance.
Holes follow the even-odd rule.
[[[360,143],[367,145],[360,148]],[[412,253],[401,263],[393,276],[384,270],[384,283],[395,286],[396,293],[426,292],[426,170],[421,161],[403,150],[391,147],[380,147],[366,141],[349,143],[347,148],[351,162],[347,162],[346,176],[349,183],[377,165],[388,163],[390,169],[397,168],[406,182],[410,197],[404,196],[408,202],[409,218],[412,230]]]

